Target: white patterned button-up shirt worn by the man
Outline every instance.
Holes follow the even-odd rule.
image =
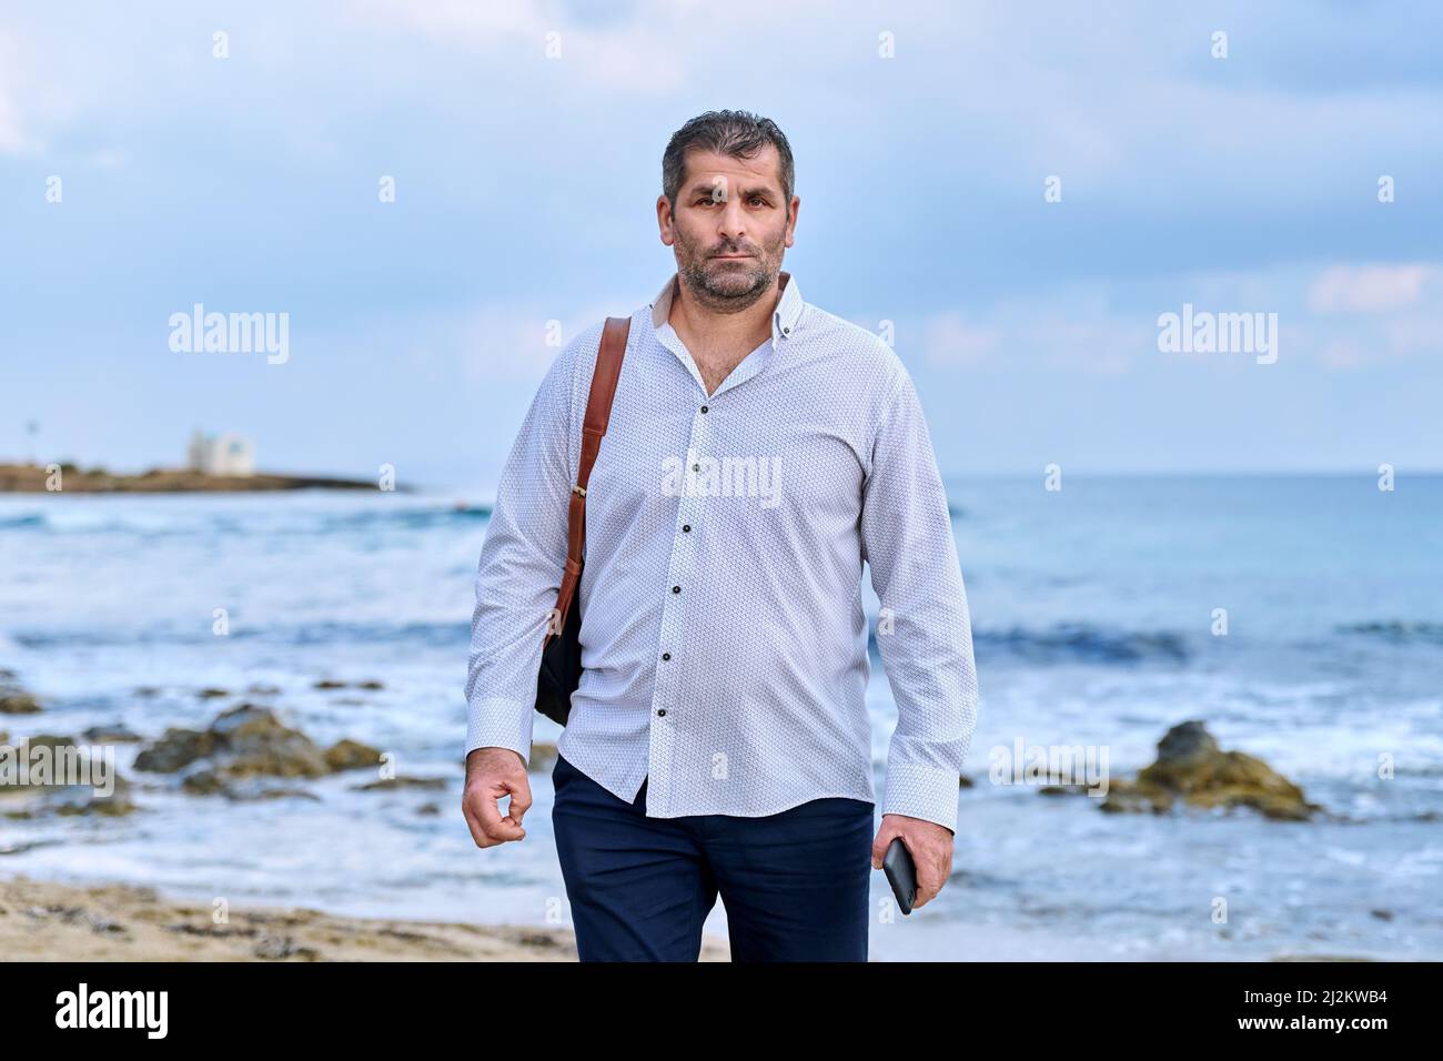
[[[882,339],[784,283],[772,336],[707,394],[632,315],[586,492],[580,687],[561,755],[648,817],[876,801],[863,562],[898,706],[883,814],[955,831],[977,725],[971,621],[916,390]],[[476,576],[466,752],[530,761],[537,668],[602,323],[553,361],[502,471]],[[573,605],[577,606],[577,605]]]

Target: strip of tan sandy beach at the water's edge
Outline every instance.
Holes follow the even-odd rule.
[[[576,961],[567,928],[338,917],[307,908],[173,901],[124,883],[0,879],[7,961]],[[707,935],[703,961],[727,961]]]

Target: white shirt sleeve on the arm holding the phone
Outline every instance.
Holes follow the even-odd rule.
[[[882,813],[955,833],[962,761],[977,728],[971,616],[947,492],[905,368],[873,443],[860,530],[882,605],[877,648],[898,706]]]

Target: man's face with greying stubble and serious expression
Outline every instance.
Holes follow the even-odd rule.
[[[792,245],[801,199],[791,217],[782,192],[781,156],[768,144],[750,159],[691,149],[671,211],[657,201],[661,241],[677,256],[677,273],[703,306],[736,312],[776,281]]]

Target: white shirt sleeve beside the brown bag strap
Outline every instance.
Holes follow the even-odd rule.
[[[511,748],[531,762],[541,644],[566,567],[577,357],[600,328],[577,336],[537,388],[496,488],[476,567],[466,674],[466,755]],[[580,446],[576,447],[577,453]]]

